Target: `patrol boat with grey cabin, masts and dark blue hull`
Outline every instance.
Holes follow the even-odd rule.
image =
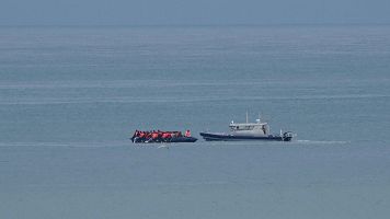
[[[234,123],[233,120],[229,125],[230,132],[200,132],[200,136],[207,140],[273,140],[273,141],[290,141],[295,136],[291,131],[283,132],[279,135],[271,135],[269,126],[267,123],[262,123],[260,117],[255,123]]]

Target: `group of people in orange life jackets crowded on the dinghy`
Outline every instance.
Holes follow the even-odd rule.
[[[131,137],[131,140],[133,142],[170,142],[172,138],[181,137],[191,137],[191,131],[186,130],[183,136],[182,131],[136,130]]]

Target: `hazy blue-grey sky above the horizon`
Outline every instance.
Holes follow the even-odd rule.
[[[390,0],[0,0],[0,25],[390,23]]]

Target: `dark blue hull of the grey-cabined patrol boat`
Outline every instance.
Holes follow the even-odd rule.
[[[290,136],[233,136],[228,134],[200,132],[207,141],[238,141],[238,140],[268,140],[268,141],[290,141]]]

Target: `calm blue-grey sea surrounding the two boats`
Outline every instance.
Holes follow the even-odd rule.
[[[0,218],[389,218],[389,112],[390,25],[1,26]]]

